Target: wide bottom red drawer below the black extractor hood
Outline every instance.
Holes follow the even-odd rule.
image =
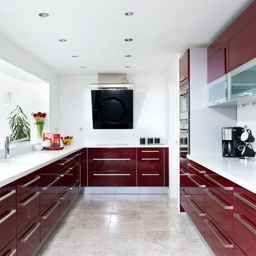
[[[136,186],[136,171],[88,171],[88,186]]]

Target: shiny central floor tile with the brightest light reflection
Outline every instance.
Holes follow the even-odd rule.
[[[112,210],[110,222],[140,222],[138,210]]]

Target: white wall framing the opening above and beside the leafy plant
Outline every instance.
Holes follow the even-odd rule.
[[[27,54],[25,51],[14,45],[11,41],[7,40],[4,36],[0,35],[0,59],[20,67],[22,70],[39,77],[43,81],[49,83],[50,87],[50,109],[49,109],[49,126],[50,131],[59,128],[59,76],[41,64],[35,58]],[[40,93],[40,92],[39,92]],[[41,94],[41,97],[44,97]]]

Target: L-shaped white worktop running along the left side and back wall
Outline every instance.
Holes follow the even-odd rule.
[[[66,146],[62,150],[42,150],[42,151],[29,151],[19,155],[12,156],[10,150],[9,159],[0,159],[0,187],[7,185],[27,174],[30,174],[50,163],[60,160],[67,155],[74,153],[82,148],[141,148],[141,147],[157,147],[164,148],[168,145],[98,145],[93,143],[74,143]]]

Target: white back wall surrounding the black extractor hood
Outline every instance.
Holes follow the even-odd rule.
[[[141,136],[166,135],[166,96],[164,75],[128,75],[134,83],[134,129],[93,129],[91,83],[98,75],[60,76],[60,126],[62,135],[88,142],[138,143]],[[83,127],[83,132],[78,128]]]

